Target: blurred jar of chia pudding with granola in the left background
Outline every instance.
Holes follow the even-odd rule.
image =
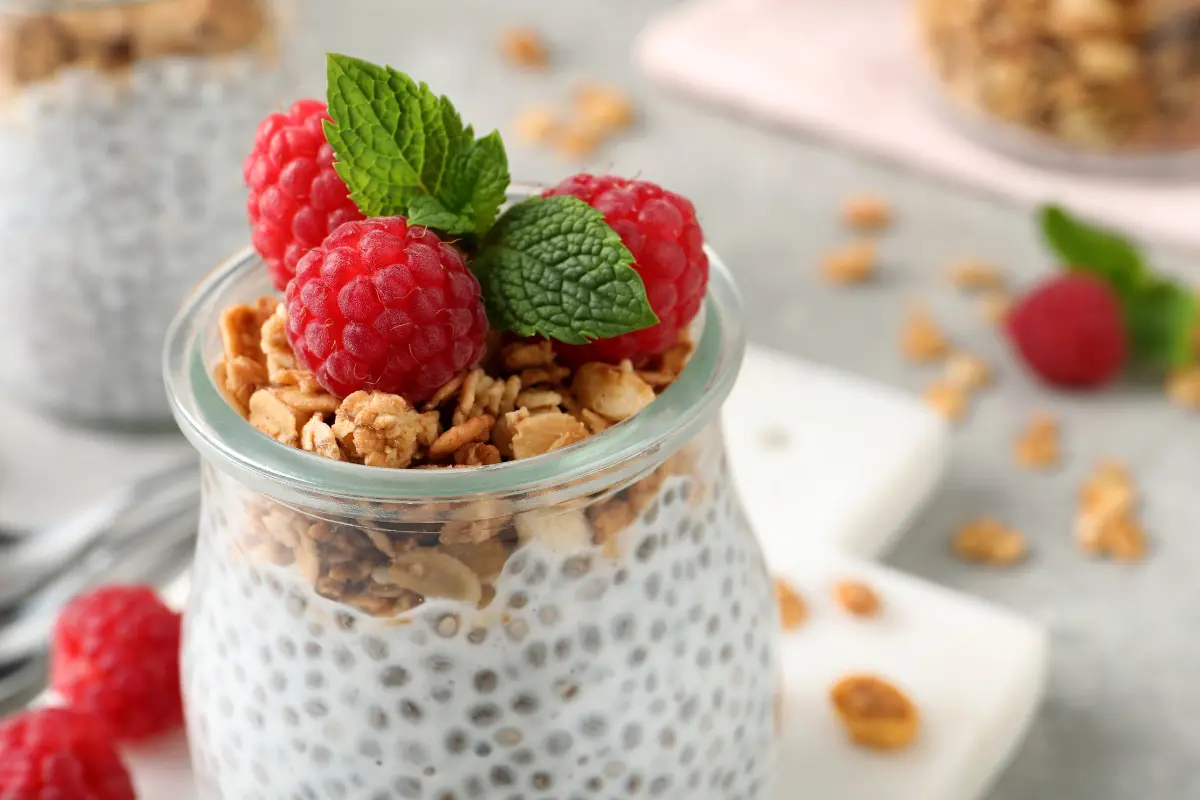
[[[30,405],[170,425],[163,336],[246,240],[290,1],[0,0],[0,383]]]

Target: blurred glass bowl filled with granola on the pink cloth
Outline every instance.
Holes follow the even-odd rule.
[[[918,0],[954,120],[1054,166],[1200,167],[1200,0]]]

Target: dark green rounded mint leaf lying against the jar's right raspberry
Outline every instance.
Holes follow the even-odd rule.
[[[659,321],[632,263],[599,211],[535,197],[497,221],[474,269],[493,326],[586,344]]]

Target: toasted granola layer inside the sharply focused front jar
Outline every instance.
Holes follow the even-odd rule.
[[[558,365],[548,342],[494,348],[485,366],[455,375],[420,408],[384,392],[338,398],[299,367],[287,313],[275,297],[232,306],[220,320],[222,357],[214,381],[251,425],[281,444],[323,458],[391,469],[486,467],[575,444],[637,414],[683,369],[690,342],[650,368],[629,363]],[[396,529],[304,515],[266,498],[247,501],[239,546],[280,566],[294,565],[317,594],[367,614],[394,616],[442,597],[486,606],[500,571],[523,542],[557,552],[600,546],[622,555],[619,534],[653,503],[662,482],[692,471],[684,447],[656,470],[584,510],[514,515],[499,501],[406,511]],[[689,501],[703,500],[702,489]]]

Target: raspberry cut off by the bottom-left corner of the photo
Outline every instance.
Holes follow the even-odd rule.
[[[4,800],[134,800],[133,782],[104,723],[41,709],[0,722]]]

